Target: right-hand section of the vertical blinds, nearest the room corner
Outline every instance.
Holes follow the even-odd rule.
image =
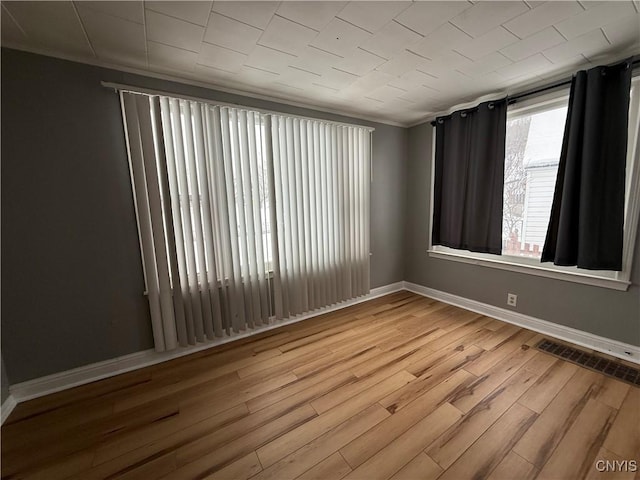
[[[296,315],[369,292],[369,132],[272,115],[275,311]]]

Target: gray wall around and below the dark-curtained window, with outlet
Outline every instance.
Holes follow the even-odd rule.
[[[520,313],[640,345],[640,235],[626,292],[429,258],[431,133],[429,124],[409,130],[405,280],[503,308],[512,292]]]

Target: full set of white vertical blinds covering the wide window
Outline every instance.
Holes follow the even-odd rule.
[[[369,292],[368,129],[120,95],[156,350]]]

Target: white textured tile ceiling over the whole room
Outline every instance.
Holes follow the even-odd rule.
[[[2,45],[400,124],[640,52],[640,1],[2,2]]]

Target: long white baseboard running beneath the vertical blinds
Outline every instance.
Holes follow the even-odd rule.
[[[242,332],[242,333],[234,334],[230,337],[212,340],[210,342],[203,343],[195,347],[191,346],[191,347],[178,348],[170,352],[156,352],[153,349],[145,350],[142,352],[136,352],[136,353],[124,355],[121,357],[112,358],[102,362],[84,365],[82,367],[74,368],[64,372],[54,373],[52,375],[47,375],[45,377],[28,380],[26,382],[16,383],[15,385],[11,385],[9,387],[9,391],[11,392],[11,395],[9,398],[13,399],[13,402],[14,402],[13,406],[15,406],[15,403],[24,402],[27,400],[31,400],[33,398],[42,397],[44,395],[49,395],[51,393],[56,393],[62,390],[67,390],[69,388],[77,387],[79,385],[84,385],[86,383],[91,383],[97,380],[102,380],[104,378],[113,377],[121,373],[130,372],[132,370],[137,370],[139,368],[144,368],[150,365],[155,365],[157,363],[166,362],[174,358],[190,355],[192,353],[195,353],[201,350],[206,350],[208,348],[216,347],[218,345],[222,345],[228,342],[233,342],[235,340],[239,340],[241,338],[248,337],[250,335],[255,335],[257,333],[266,332],[268,330],[282,327],[284,325],[289,325],[292,323],[300,322],[302,320],[307,320],[309,318],[313,318],[318,315],[323,315],[325,313],[333,312],[335,310],[340,310],[342,308],[349,307],[351,305],[355,305],[358,303],[366,302],[368,300],[372,300],[374,298],[381,297],[383,295],[388,295],[389,293],[398,292],[403,289],[404,289],[404,282],[397,282],[390,285],[373,288],[371,289],[369,294],[354,298],[352,300],[347,300],[345,302],[332,305],[330,307],[326,307],[320,310],[316,310],[314,312],[311,312],[305,315],[299,315],[291,319],[287,319],[284,321],[275,322],[269,325],[264,325],[262,327],[254,328],[248,332]],[[11,407],[11,409],[13,409],[13,407]],[[2,409],[2,415],[4,416],[4,407]]]

